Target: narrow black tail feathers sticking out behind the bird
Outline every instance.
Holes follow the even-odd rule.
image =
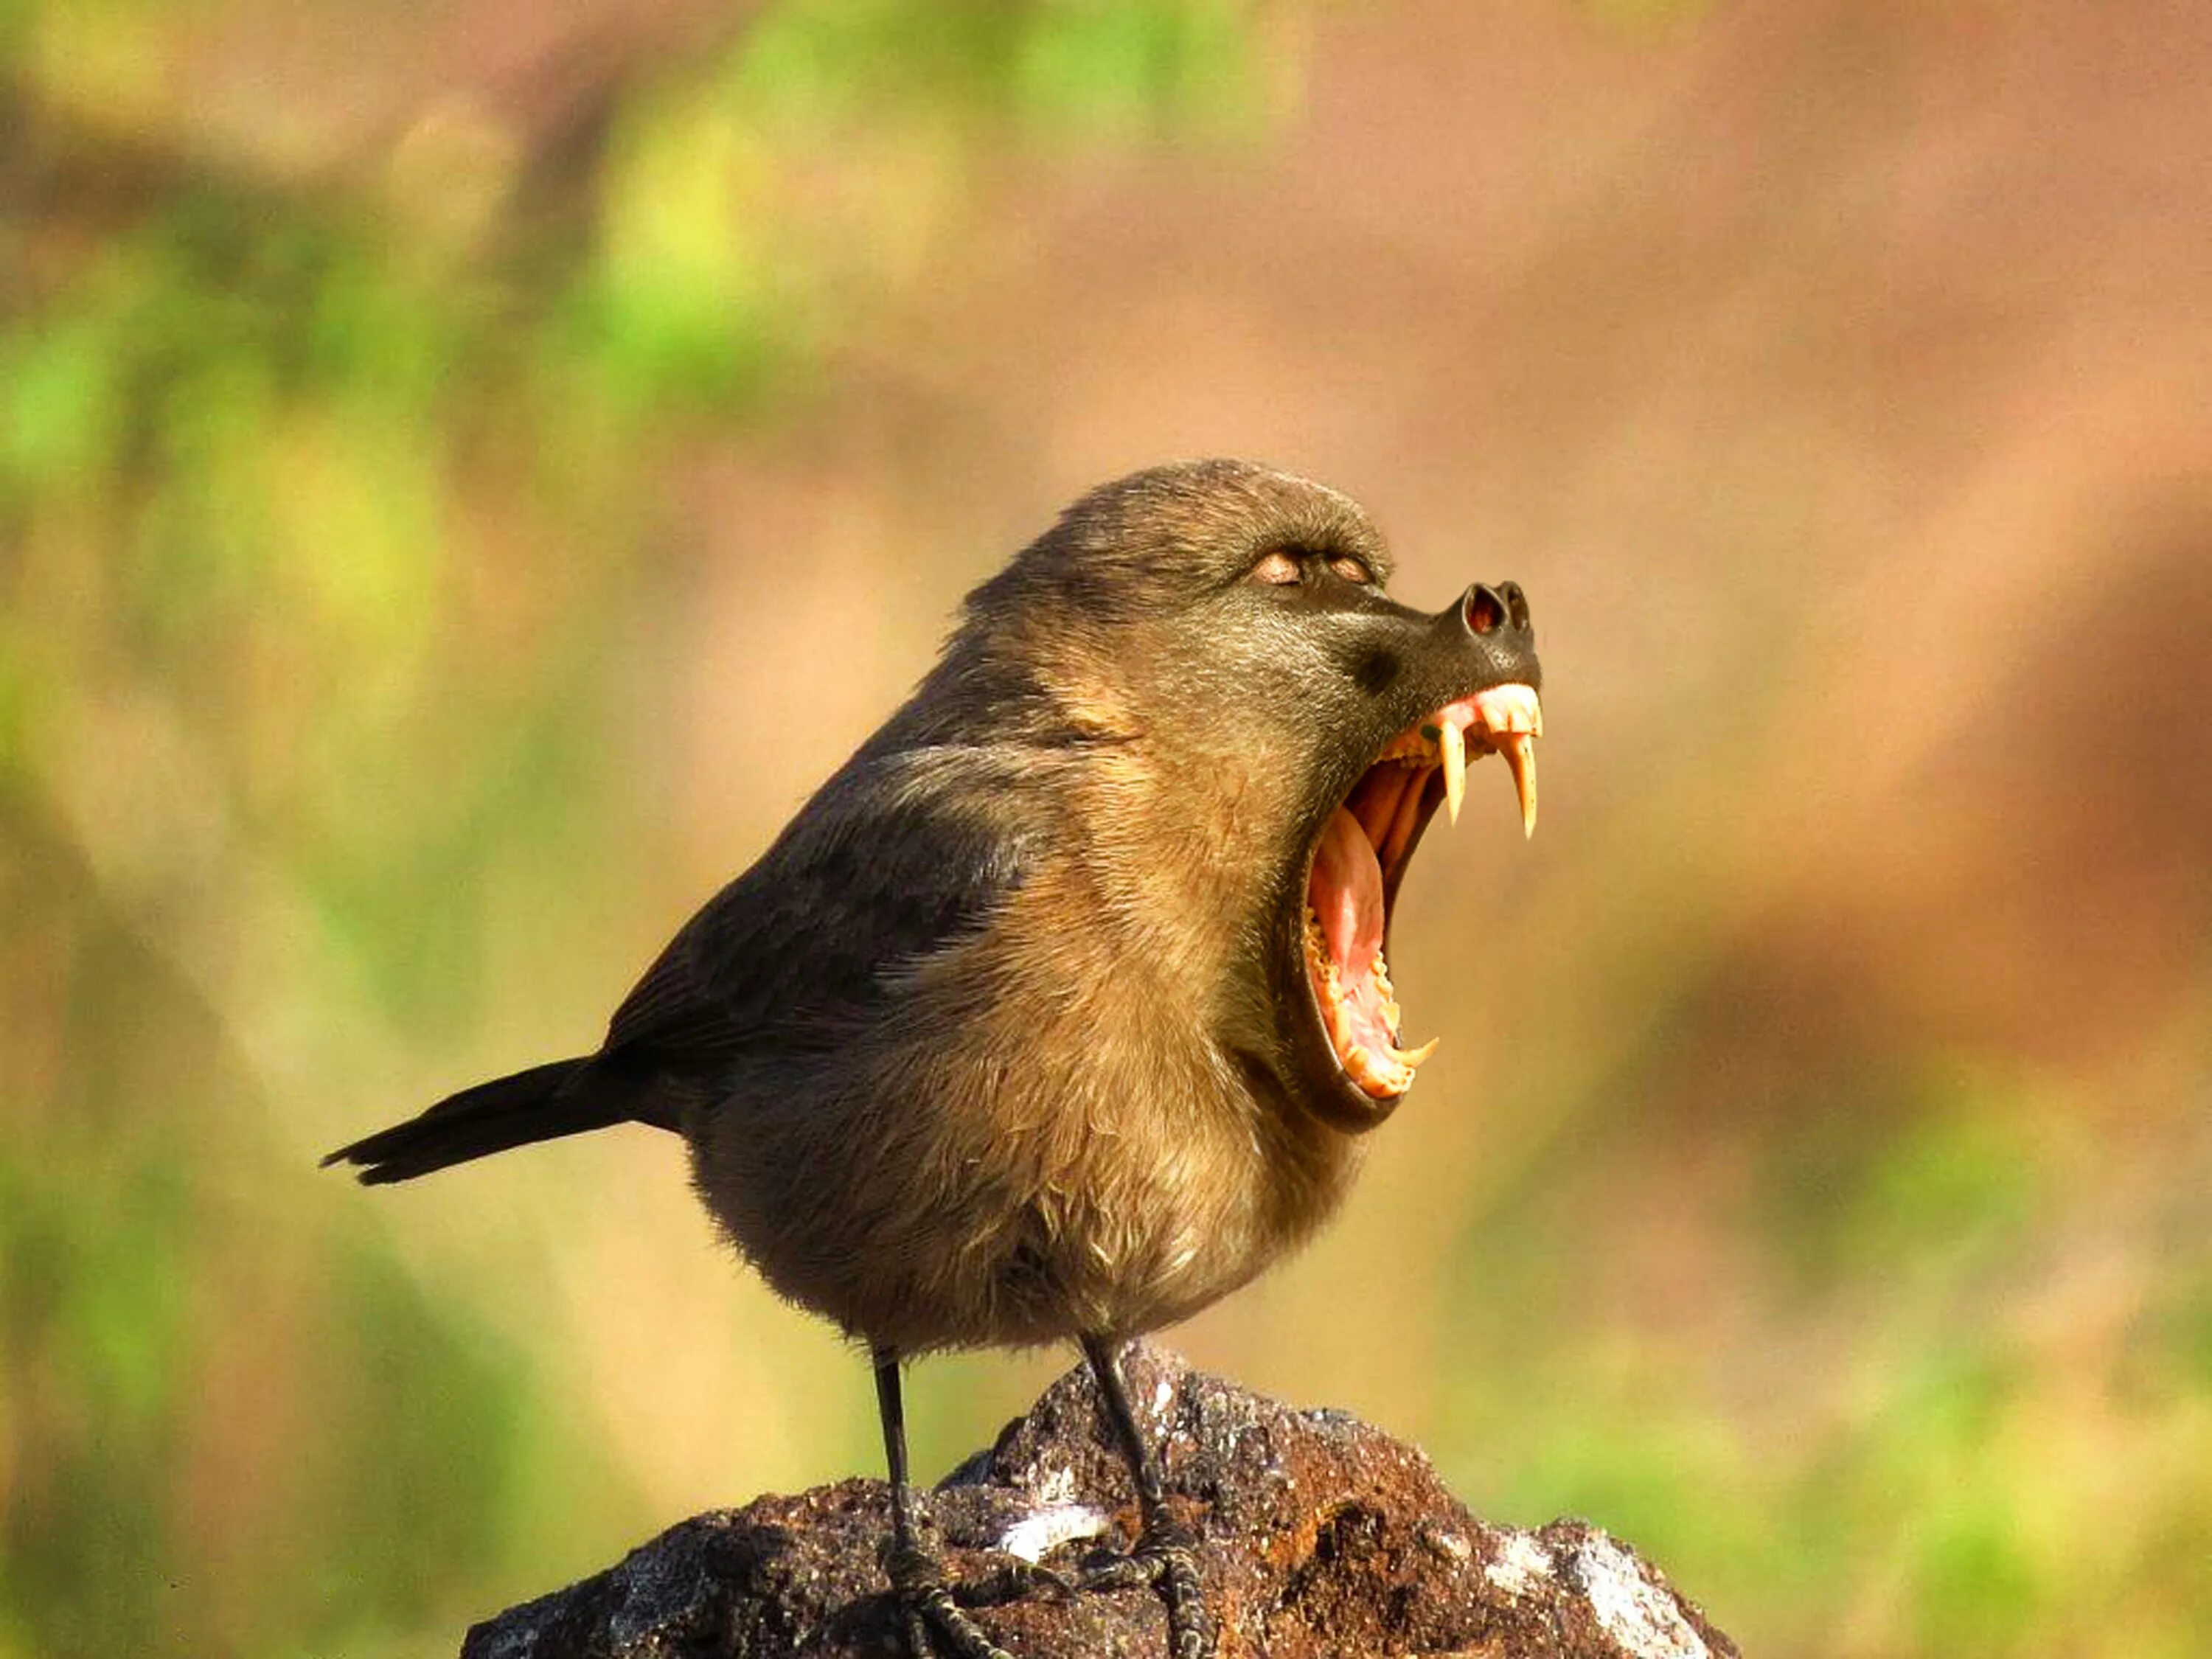
[[[420,1117],[341,1146],[323,1159],[323,1168],[354,1164],[361,1168],[363,1186],[411,1181],[511,1146],[633,1119],[653,1121],[646,1110],[650,1108],[639,1099],[635,1082],[597,1057],[555,1060],[551,1066],[531,1066],[513,1077],[462,1088]]]

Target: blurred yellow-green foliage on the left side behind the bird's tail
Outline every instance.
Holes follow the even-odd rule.
[[[210,18],[0,33],[24,1659],[420,1652],[657,1520],[511,1329],[303,1183],[323,1079],[482,1022],[489,909],[604,920],[655,456],[803,400],[993,146],[1243,119],[1228,4],[794,0],[582,139],[431,102],[292,173],[164,104]]]

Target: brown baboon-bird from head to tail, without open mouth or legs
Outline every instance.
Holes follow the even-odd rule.
[[[1301,593],[1248,580],[1272,549],[1307,555]],[[1352,502],[1261,467],[1093,491],[599,1055],[542,1068],[542,1133],[679,1128],[737,1248],[880,1349],[1133,1336],[1243,1285],[1383,1115],[1314,1057],[1314,838],[1411,719],[1535,675],[1387,575]],[[533,1139],[511,1088],[482,1128],[493,1088],[336,1157],[403,1179],[456,1124],[460,1157]]]

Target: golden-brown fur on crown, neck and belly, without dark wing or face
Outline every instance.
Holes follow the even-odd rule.
[[[1274,1084],[1267,951],[1365,754],[1318,752],[1356,695],[1327,653],[1228,604],[1283,544],[1387,571],[1352,502],[1256,467],[1084,498],[754,872],[885,794],[1044,818],[1022,885],[905,969],[894,1018],[686,1117],[701,1194],[792,1298],[902,1352],[1135,1334],[1345,1190],[1354,1141]]]

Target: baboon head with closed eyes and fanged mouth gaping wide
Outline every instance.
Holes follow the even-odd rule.
[[[1082,841],[1124,949],[1190,962],[1214,1037],[1345,1130],[1433,1044],[1400,1046],[1385,964],[1407,863],[1469,761],[1502,754],[1535,827],[1528,602],[1429,615],[1345,495],[1206,460],[1104,484],[969,597],[940,675],[1086,757]],[[951,688],[947,688],[951,690]],[[1172,978],[1172,973],[1170,973]]]

